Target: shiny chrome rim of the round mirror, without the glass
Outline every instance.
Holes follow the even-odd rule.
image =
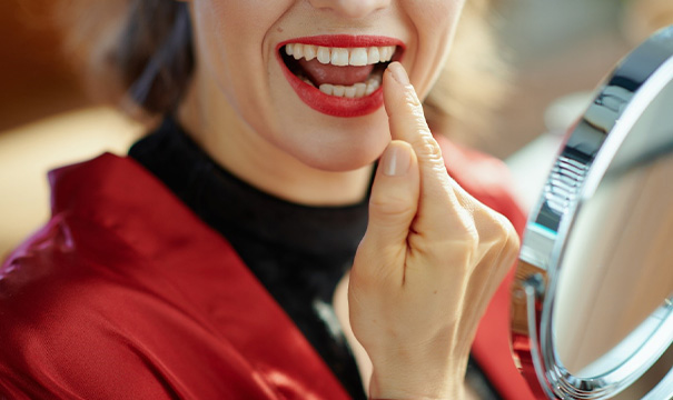
[[[662,316],[660,328],[632,358],[606,373],[580,378],[558,359],[551,318],[562,258],[578,210],[595,192],[643,110],[671,80],[673,26],[641,44],[607,78],[566,137],[531,213],[512,287],[512,350],[541,399],[613,398],[645,373],[673,342],[673,304],[669,302],[656,311]],[[644,399],[672,397],[673,370]]]

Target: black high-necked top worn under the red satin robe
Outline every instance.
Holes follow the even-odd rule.
[[[171,118],[129,156],[231,243],[350,396],[366,399],[331,301],[365,233],[367,199],[308,207],[269,196],[220,168]],[[473,360],[467,380],[481,398],[497,399]]]

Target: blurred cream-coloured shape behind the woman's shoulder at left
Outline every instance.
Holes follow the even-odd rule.
[[[123,154],[142,130],[112,109],[90,108],[0,132],[0,258],[49,217],[47,171]]]

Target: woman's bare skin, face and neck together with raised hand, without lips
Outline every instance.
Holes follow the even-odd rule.
[[[305,204],[360,201],[383,153],[347,291],[347,321],[372,366],[369,393],[464,398],[478,320],[518,241],[504,217],[447,176],[420,107],[448,53],[463,1],[190,3],[197,69],[181,123],[226,169]],[[385,109],[328,117],[290,89],[276,44],[329,33],[406,43],[404,66],[393,63],[384,74]]]

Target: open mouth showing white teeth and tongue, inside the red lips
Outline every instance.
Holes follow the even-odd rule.
[[[359,99],[380,88],[385,69],[400,58],[402,48],[287,43],[279,52],[287,69],[304,83],[327,96]]]

